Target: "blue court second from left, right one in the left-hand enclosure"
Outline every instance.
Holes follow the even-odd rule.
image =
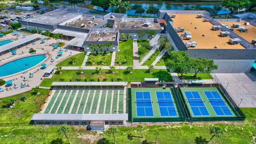
[[[161,116],[178,116],[170,92],[156,92]]]

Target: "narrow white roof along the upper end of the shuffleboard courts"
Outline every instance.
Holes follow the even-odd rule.
[[[128,82],[52,82],[52,86],[124,86]]]

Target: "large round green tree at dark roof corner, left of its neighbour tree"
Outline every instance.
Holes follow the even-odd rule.
[[[166,60],[166,66],[172,69],[173,72],[183,74],[190,72],[191,59],[187,55],[187,51],[170,51],[170,57]]]

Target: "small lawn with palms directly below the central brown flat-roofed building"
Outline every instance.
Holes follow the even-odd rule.
[[[88,62],[88,60],[89,60],[90,57],[92,57],[92,56],[95,56],[94,64],[91,64],[90,62]],[[100,59],[101,59],[102,57],[105,57],[105,64],[102,64],[102,63],[100,62]],[[101,54],[101,52],[99,52],[98,55],[96,55],[96,52],[95,52],[95,54],[90,53],[90,55],[89,55],[89,57],[88,57],[88,60],[87,60],[87,62],[86,62],[86,66],[98,66],[98,65],[101,65],[101,66],[110,66],[110,64],[111,64],[111,58],[112,58],[112,52],[110,52],[109,55],[108,55],[108,54],[104,54],[104,52],[103,52],[103,54]]]

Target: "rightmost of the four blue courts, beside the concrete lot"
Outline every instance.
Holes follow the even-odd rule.
[[[217,91],[204,91],[204,94],[218,116],[233,116],[231,110]]]

